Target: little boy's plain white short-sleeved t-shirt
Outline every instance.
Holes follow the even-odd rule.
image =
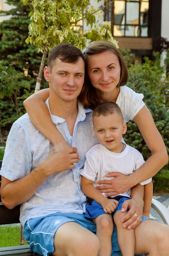
[[[88,180],[92,180],[94,182],[93,185],[96,187],[97,181],[110,180],[113,178],[107,177],[106,174],[118,172],[129,175],[140,168],[144,163],[143,155],[136,148],[129,145],[126,145],[123,152],[114,153],[101,144],[97,144],[86,153],[86,162],[80,174]],[[148,184],[151,180],[152,178],[140,184]],[[103,195],[105,194],[103,193]],[[130,189],[120,195],[130,197]]]

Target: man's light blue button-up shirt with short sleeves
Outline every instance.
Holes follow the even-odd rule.
[[[48,106],[48,100],[46,101]],[[49,108],[49,106],[48,106]],[[92,125],[92,110],[78,104],[78,116],[71,136],[65,119],[51,115],[53,123],[65,140],[76,147],[80,160],[75,168],[50,176],[20,209],[20,222],[55,212],[83,214],[86,196],[81,191],[79,170],[85,162],[85,153],[98,143]],[[7,139],[0,174],[13,181],[29,174],[53,150],[48,141],[33,126],[26,113],[14,122]],[[29,191],[29,186],[28,186]]]

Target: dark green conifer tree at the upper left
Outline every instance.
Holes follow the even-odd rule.
[[[4,65],[12,64],[15,70],[28,71],[32,90],[35,88],[36,77],[40,68],[42,54],[37,53],[37,47],[26,44],[28,37],[30,9],[22,0],[6,0],[7,4],[14,6],[9,11],[0,11],[1,16],[9,19],[0,23],[0,56]]]

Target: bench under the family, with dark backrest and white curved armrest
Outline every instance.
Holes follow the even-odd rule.
[[[0,161],[0,168],[2,165],[2,161]],[[1,181],[1,176],[0,176]],[[162,218],[163,222],[169,225],[169,211],[167,208],[158,202],[155,199],[152,199],[151,207],[157,211],[157,213]],[[16,206],[12,210],[7,209],[1,202],[0,198],[0,225],[4,224],[13,224],[20,223],[20,205]],[[21,229],[22,233],[22,229]],[[22,236],[21,236],[22,237]],[[22,240],[22,238],[21,238]],[[21,241],[20,241],[21,244]],[[10,247],[0,247],[0,256],[37,256],[31,249],[29,245],[18,245],[18,246],[10,246]]]

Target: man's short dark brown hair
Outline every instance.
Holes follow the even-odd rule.
[[[66,63],[77,63],[79,58],[82,58],[85,63],[81,50],[70,43],[61,43],[51,49],[48,55],[48,67],[50,72],[52,72],[56,58]]]

